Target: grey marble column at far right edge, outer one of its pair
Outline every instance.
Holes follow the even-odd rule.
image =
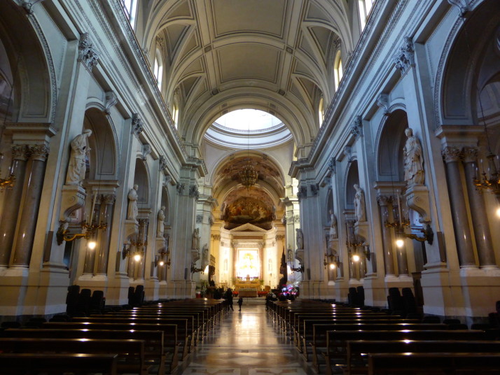
[[[472,222],[474,223],[475,246],[478,249],[479,265],[480,267],[496,266],[485,201],[474,185],[476,175],[475,163],[478,159],[478,150],[477,148],[464,147],[462,156],[464,159],[468,203],[471,207]]]

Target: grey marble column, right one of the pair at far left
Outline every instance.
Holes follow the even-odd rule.
[[[39,215],[43,176],[45,176],[48,151],[48,146],[44,144],[29,146],[32,169],[29,173],[25,200],[22,202],[18,238],[15,244],[12,263],[13,267],[28,267],[32,256],[36,219]]]

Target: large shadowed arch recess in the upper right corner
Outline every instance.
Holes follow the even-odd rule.
[[[459,31],[441,58],[445,64],[442,81],[436,85],[440,87],[436,99],[441,100],[442,116],[438,122],[478,124],[482,117],[478,115],[478,95],[499,73],[499,26],[500,7],[494,0],[483,1],[468,13],[465,22],[457,20]]]

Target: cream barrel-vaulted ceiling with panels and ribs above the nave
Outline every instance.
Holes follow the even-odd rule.
[[[281,115],[299,148],[314,139],[317,94],[327,102],[333,96],[333,41],[352,50],[344,1],[156,0],[148,12],[144,45],[165,36],[160,43],[170,64],[163,92],[170,102],[181,87],[186,142],[200,143],[222,104],[239,105],[231,103],[235,92],[253,104],[247,108]]]

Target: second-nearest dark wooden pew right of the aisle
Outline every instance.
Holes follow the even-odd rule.
[[[344,374],[368,374],[368,353],[500,353],[500,341],[347,341],[347,366]],[[331,364],[330,364],[331,365]],[[357,365],[357,366],[355,366]],[[327,374],[331,366],[327,364]]]

